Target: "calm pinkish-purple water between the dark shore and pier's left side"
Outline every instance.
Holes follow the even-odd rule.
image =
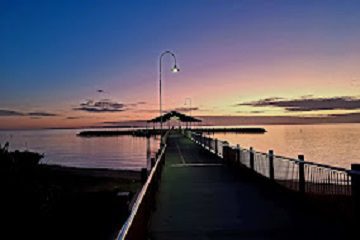
[[[146,138],[119,136],[82,138],[80,130],[0,131],[0,143],[10,149],[44,153],[43,163],[71,167],[139,170],[147,166]],[[154,155],[159,140],[150,139]]]

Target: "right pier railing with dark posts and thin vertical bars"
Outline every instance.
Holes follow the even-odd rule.
[[[329,197],[351,196],[351,171],[325,164],[230,146],[226,141],[187,131],[186,136],[232,166],[246,167],[281,186],[303,194]]]

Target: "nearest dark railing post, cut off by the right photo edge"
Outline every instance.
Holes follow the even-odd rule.
[[[358,218],[360,214],[360,164],[351,164],[351,196],[354,218]]]

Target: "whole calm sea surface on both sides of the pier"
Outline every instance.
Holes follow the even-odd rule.
[[[360,124],[329,125],[264,125],[265,134],[216,133],[211,136],[232,145],[305,161],[350,168],[360,163]],[[42,163],[71,167],[139,170],[147,166],[147,140],[142,137],[76,136],[81,130],[0,131],[0,143],[10,149],[44,153]],[[150,139],[151,155],[159,146],[158,138]]]

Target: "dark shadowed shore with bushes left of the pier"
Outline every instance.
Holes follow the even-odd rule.
[[[140,187],[138,173],[43,165],[43,155],[8,146],[0,145],[0,239],[115,237]]]

